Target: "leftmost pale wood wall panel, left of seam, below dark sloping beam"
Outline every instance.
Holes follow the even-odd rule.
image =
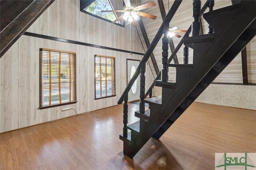
[[[1,58],[1,131],[18,128],[18,42]]]

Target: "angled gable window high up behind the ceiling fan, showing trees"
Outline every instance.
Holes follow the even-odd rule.
[[[115,12],[100,12],[102,10],[114,10],[110,0],[96,0],[88,8],[87,12],[90,12],[96,16],[100,16],[110,21],[114,21],[117,18]],[[120,23],[120,21],[118,21]]]

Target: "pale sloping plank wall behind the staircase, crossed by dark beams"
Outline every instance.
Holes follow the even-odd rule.
[[[146,0],[142,0],[141,4],[146,2]],[[163,0],[166,13],[168,12],[168,0]],[[174,0],[169,0],[169,8],[172,6]],[[202,0],[202,6],[205,4],[206,0]],[[150,20],[147,18],[142,18],[143,23],[146,28],[146,32],[148,34],[149,41],[152,42],[154,39],[154,35],[156,35],[156,32],[158,31],[160,25],[162,24],[162,18],[159,10],[158,3],[156,1],[157,6],[154,8],[150,8],[147,10],[144,10],[144,12],[156,15],[156,20]],[[232,5],[231,0],[218,0],[215,1],[214,9],[222,8],[225,6]],[[208,10],[206,10],[208,12]],[[177,10],[177,13],[175,14],[174,18],[170,22],[170,26],[174,27],[180,27],[180,29],[188,29],[190,24],[192,23],[192,1],[184,0],[182,1],[182,4],[180,5],[180,8]],[[202,26],[204,30],[204,34],[207,33],[207,22],[205,20],[202,20]],[[140,32],[140,31],[139,31]],[[184,34],[180,34],[184,35]],[[140,36],[142,37],[142,34],[140,32]],[[176,47],[178,43],[180,42],[180,39],[177,37],[173,37],[174,40],[174,46]],[[143,39],[142,39],[143,41]],[[144,41],[143,41],[143,44]],[[144,45],[144,48],[146,49],[146,45]],[[162,41],[159,41],[158,45],[156,46],[156,49],[154,50],[154,55],[156,57],[156,62],[158,63],[159,70],[162,68]],[[170,54],[170,49],[169,49]],[[183,63],[183,46],[177,53],[179,63]],[[249,83],[256,83],[256,37],[250,42],[247,49],[247,62],[248,62],[248,82]],[[189,64],[192,64],[193,61],[193,50],[189,49]],[[173,62],[172,62],[173,63]],[[154,73],[155,74],[155,73]],[[171,69],[169,71],[169,78],[170,80],[175,80],[175,69]],[[233,61],[230,63],[225,70],[214,80],[214,82],[229,82],[229,83],[242,83],[242,62],[241,62],[241,54],[239,54]]]

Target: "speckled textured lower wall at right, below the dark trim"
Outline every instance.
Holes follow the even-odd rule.
[[[256,86],[210,84],[196,102],[256,110]]]

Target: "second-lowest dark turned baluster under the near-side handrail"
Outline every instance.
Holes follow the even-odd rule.
[[[146,80],[145,72],[146,72],[146,62],[143,62],[140,67],[140,113],[142,114],[145,113],[145,103],[144,103],[145,80]]]

